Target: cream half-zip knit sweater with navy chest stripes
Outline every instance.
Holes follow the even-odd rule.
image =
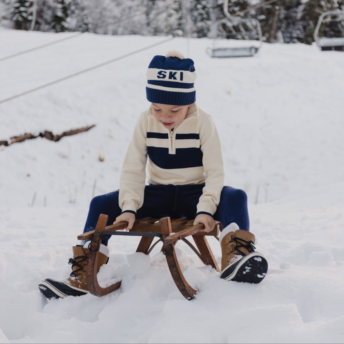
[[[147,163],[148,160],[148,163]],[[202,184],[197,213],[213,215],[224,185],[221,142],[213,117],[193,104],[183,122],[173,130],[153,117],[152,106],[140,115],[120,177],[119,206],[135,212],[143,204],[149,184]]]

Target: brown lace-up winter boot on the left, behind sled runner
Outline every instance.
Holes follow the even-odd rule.
[[[107,264],[108,248],[101,245],[103,253],[99,252],[97,262],[97,273],[103,264]],[[105,254],[104,254],[105,253]],[[66,296],[81,296],[89,291],[86,284],[86,267],[87,267],[88,248],[77,245],[73,246],[73,258],[69,258],[68,264],[72,265],[71,275],[66,281],[59,282],[51,278],[47,278],[39,284],[40,291],[48,299],[64,298]]]

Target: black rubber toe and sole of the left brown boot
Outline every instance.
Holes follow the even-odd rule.
[[[51,298],[65,298],[66,296],[81,296],[88,293],[88,291],[78,289],[65,282],[55,281],[47,278],[38,285],[41,293],[48,299]]]

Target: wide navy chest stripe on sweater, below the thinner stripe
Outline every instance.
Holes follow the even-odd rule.
[[[175,154],[169,154],[168,148],[147,147],[147,153],[155,165],[166,170],[203,166],[201,148],[176,148]]]

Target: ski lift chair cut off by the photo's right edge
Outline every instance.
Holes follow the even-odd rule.
[[[344,51],[344,37],[319,37],[320,26],[323,23],[340,22],[344,20],[344,11],[327,11],[320,15],[314,30],[314,41],[322,51]]]

